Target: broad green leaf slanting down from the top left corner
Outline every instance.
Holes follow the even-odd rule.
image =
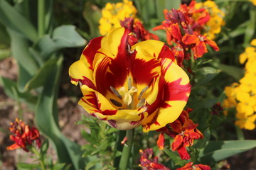
[[[0,21],[6,28],[15,31],[24,38],[28,38],[32,42],[37,38],[37,32],[33,25],[6,0],[0,1]]]

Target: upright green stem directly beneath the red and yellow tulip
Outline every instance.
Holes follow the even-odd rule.
[[[129,158],[130,158],[131,149],[132,149],[133,140],[134,140],[134,129],[127,130],[126,137],[128,140],[122,150],[122,156],[119,162],[119,170],[127,170],[127,165],[129,163]]]

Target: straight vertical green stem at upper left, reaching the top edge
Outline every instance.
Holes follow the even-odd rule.
[[[45,1],[38,0],[38,37],[45,32]]]

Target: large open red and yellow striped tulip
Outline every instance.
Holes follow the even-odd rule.
[[[70,66],[71,82],[80,84],[79,104],[90,115],[119,130],[157,130],[178,118],[191,86],[164,42],[130,46],[130,35],[117,28],[91,40]]]

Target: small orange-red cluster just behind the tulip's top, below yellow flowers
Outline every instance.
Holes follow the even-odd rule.
[[[120,25],[124,28],[127,28],[132,34],[129,35],[129,45],[132,46],[137,42],[144,40],[159,40],[157,35],[149,33],[148,30],[144,28],[142,23],[139,20],[134,21],[134,18],[124,18],[123,21],[120,21]]]

